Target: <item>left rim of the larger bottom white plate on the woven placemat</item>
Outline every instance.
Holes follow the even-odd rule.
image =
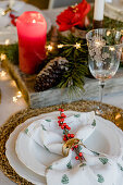
[[[27,180],[28,182],[32,182],[36,185],[46,185],[46,178],[44,176],[40,176],[29,169],[27,169],[17,158],[15,153],[15,141],[19,136],[19,133],[28,124],[30,124],[29,120],[17,126],[14,132],[10,135],[7,145],[5,145],[5,156],[9,160],[10,165],[15,170],[15,172],[22,176],[23,178]]]

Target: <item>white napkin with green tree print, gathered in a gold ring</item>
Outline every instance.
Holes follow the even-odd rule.
[[[65,112],[66,115],[67,112]],[[70,133],[75,135],[74,138],[81,139],[83,144],[96,130],[94,112],[74,112],[73,115],[66,116],[65,123],[71,126]],[[59,127],[57,118],[38,120],[25,131],[30,139],[46,148],[49,155],[53,152],[62,156],[63,131]],[[83,163],[75,160],[75,151],[70,150],[67,157],[54,161],[47,168],[48,185],[123,185],[122,153],[119,157],[107,156],[91,151],[84,146],[79,146],[79,151],[85,158]]]

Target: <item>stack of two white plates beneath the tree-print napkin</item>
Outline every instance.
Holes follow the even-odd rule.
[[[66,116],[75,113],[75,111],[65,112]],[[46,185],[46,168],[57,159],[60,159],[61,156],[49,153],[49,151],[36,144],[29,135],[25,133],[26,127],[40,119],[57,119],[58,115],[59,112],[52,112],[25,121],[14,130],[7,141],[5,155],[10,165],[20,176],[33,184]],[[119,156],[121,151],[120,139],[123,137],[122,131],[110,121],[100,116],[96,116],[96,131],[85,143],[87,148],[101,153],[107,153],[108,156]],[[36,132],[34,131],[34,134],[36,134]]]

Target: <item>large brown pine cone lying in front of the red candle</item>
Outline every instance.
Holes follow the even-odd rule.
[[[51,60],[37,75],[35,90],[44,91],[57,86],[63,73],[67,71],[67,63],[69,61],[61,57]]]

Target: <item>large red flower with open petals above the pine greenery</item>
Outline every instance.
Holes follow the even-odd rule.
[[[73,26],[78,26],[79,28],[85,26],[85,21],[87,20],[87,14],[90,11],[90,4],[86,0],[83,0],[77,5],[69,7],[57,17],[57,24],[59,25],[59,30],[67,30]]]

